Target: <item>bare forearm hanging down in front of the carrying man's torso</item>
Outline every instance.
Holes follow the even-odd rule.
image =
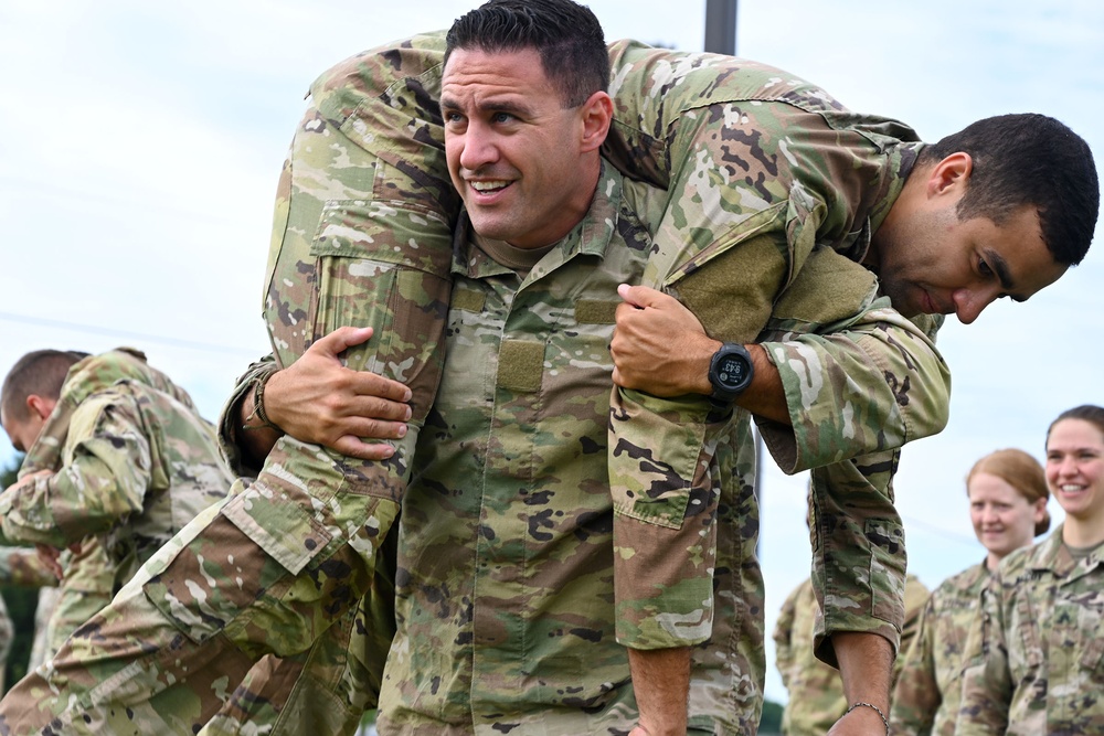
[[[629,649],[633,691],[640,711],[635,736],[683,736],[690,696],[690,648]]]

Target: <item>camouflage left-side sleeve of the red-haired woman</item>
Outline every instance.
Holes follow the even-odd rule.
[[[903,648],[901,671],[893,687],[890,710],[890,730],[901,736],[922,736],[931,733],[935,713],[943,702],[935,680],[935,597],[927,600],[920,616],[916,636],[911,646]]]

